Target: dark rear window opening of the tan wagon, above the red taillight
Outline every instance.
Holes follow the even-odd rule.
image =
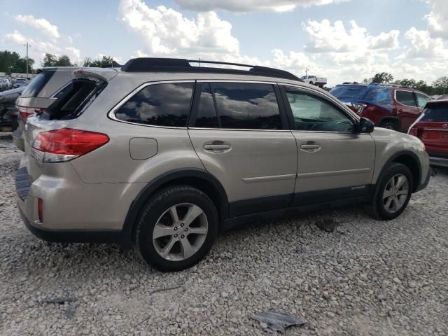
[[[45,113],[50,116],[50,119],[77,118],[102,92],[106,84],[103,80],[96,78],[71,80],[53,96],[56,101],[48,106]]]

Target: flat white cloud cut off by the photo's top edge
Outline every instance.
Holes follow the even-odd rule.
[[[344,0],[175,0],[183,9],[205,12],[229,10],[232,12],[274,11],[286,12],[297,7],[327,5]]]

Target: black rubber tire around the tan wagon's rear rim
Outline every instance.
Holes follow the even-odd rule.
[[[167,260],[156,251],[153,230],[159,218],[176,204],[194,204],[207,216],[208,231],[202,246],[189,258]],[[181,230],[179,230],[180,232]],[[192,186],[172,186],[161,190],[148,201],[139,218],[135,233],[136,248],[141,257],[151,266],[163,272],[180,271],[200,262],[210,251],[218,235],[218,213],[214,203],[201,190]],[[167,236],[170,237],[171,236]],[[174,237],[174,236],[173,236]],[[180,243],[179,243],[180,244]]]

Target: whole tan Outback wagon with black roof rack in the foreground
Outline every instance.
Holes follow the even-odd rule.
[[[190,62],[80,69],[28,118],[16,188],[34,235],[135,244],[173,271],[248,218],[363,203],[390,220],[427,185],[416,137],[286,71]]]

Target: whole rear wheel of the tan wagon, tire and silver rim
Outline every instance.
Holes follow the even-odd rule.
[[[207,252],[218,234],[213,202],[191,186],[162,190],[139,216],[136,245],[148,264],[162,271],[192,267]]]

